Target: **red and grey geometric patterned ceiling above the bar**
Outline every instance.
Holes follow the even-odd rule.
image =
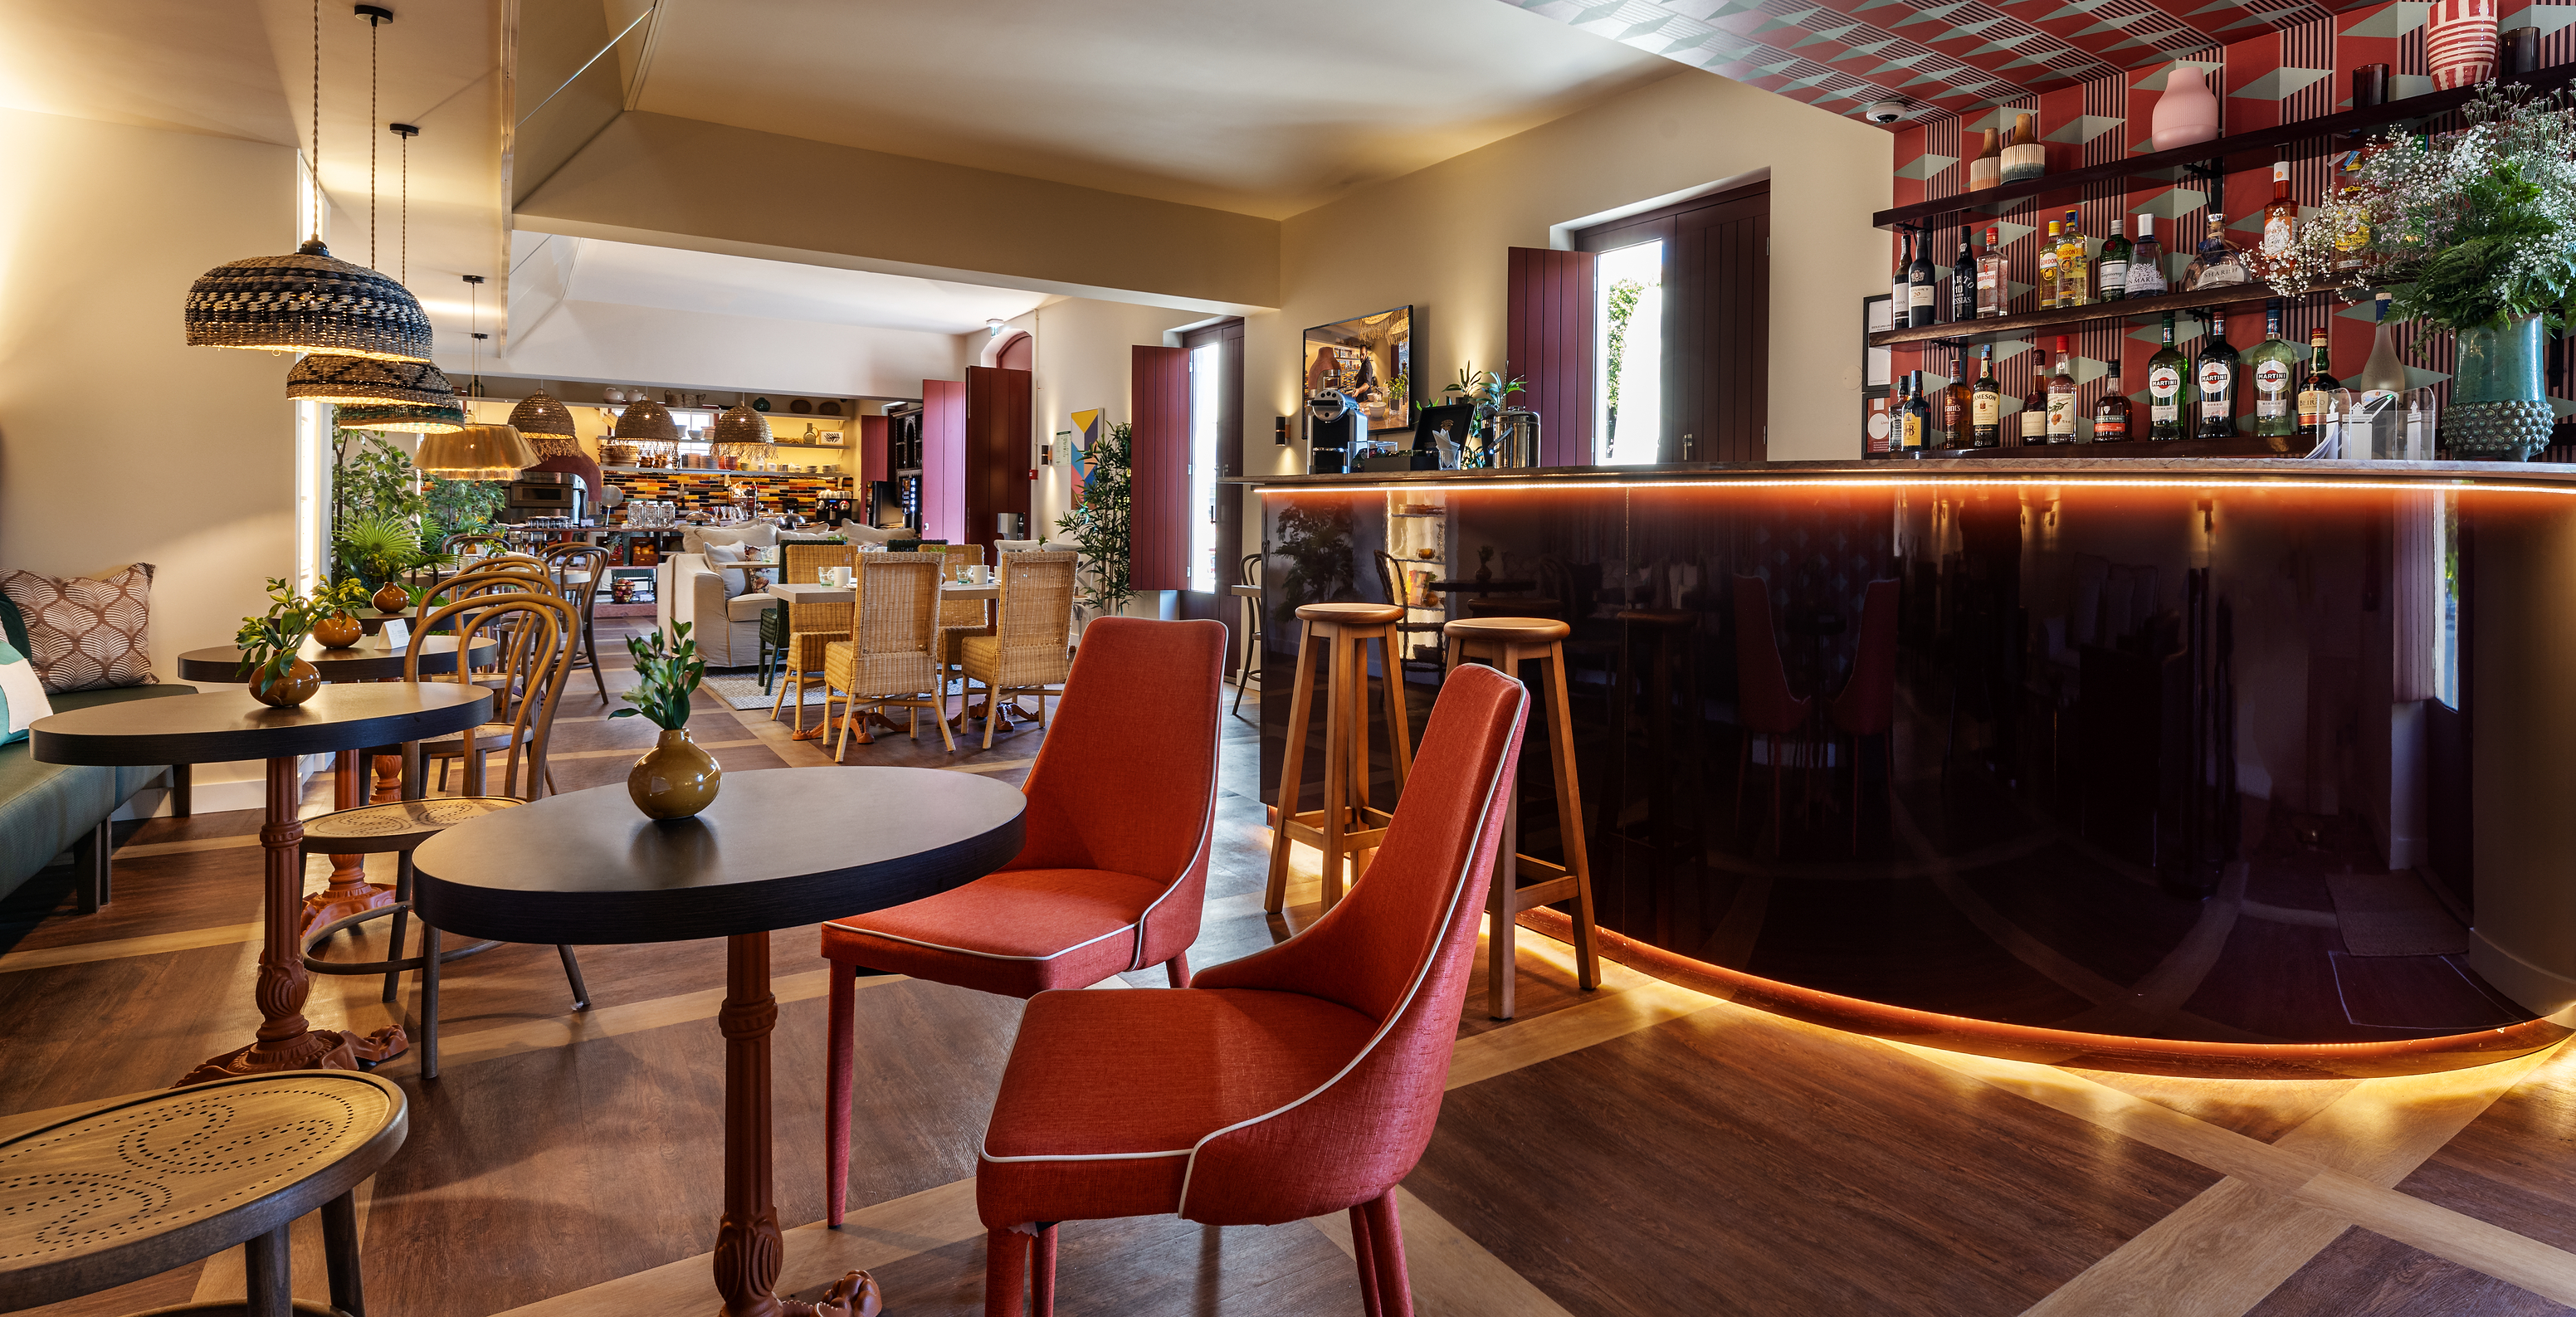
[[[2316,0],[1502,3],[1842,113],[1899,95],[1971,113],[2331,15]]]

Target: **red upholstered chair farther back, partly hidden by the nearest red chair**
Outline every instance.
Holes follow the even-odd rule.
[[[850,1186],[858,969],[1028,997],[1164,966],[1190,982],[1216,830],[1221,621],[1100,619],[1082,631],[1028,771],[1028,838],[953,892],[822,925],[832,961],[824,1155],[829,1222]]]

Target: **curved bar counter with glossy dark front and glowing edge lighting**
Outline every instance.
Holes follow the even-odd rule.
[[[1267,691],[1293,683],[1301,603],[1388,601],[1388,575],[1417,624],[1481,601],[1574,626],[1582,827],[1605,951],[1631,966],[2105,1070],[2398,1075],[2568,1033],[2550,1015],[2576,1003],[2576,466],[1244,485]],[[1479,593],[1479,562],[1515,588]],[[1870,582],[1896,582],[1888,624],[1865,624]],[[1437,629],[1414,642],[1430,657]],[[1406,665],[1417,732],[1435,683]],[[1273,804],[1285,709],[1262,701]],[[1311,737],[1321,763],[1321,722]],[[1558,858],[1564,822],[1546,760],[1525,763],[1522,851]]]

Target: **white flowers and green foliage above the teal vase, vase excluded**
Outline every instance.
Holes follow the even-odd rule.
[[[2576,108],[2563,93],[2494,82],[2450,134],[2362,147],[2357,186],[2324,198],[2262,268],[2282,296],[2331,286],[2391,294],[2391,320],[2447,330],[2550,314],[2576,289]]]

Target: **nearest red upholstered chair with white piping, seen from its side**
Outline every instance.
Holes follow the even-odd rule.
[[[1028,1276],[1054,1309],[1056,1222],[1345,1209],[1370,1317],[1412,1314],[1394,1186],[1440,1116],[1525,709],[1453,670],[1376,863],[1296,938],[1175,992],[1030,997],[976,1165],[987,1317]]]

